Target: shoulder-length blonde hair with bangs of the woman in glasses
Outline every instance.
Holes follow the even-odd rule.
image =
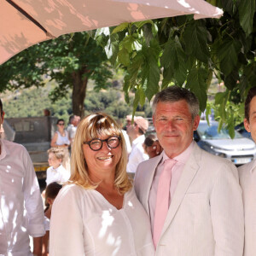
[[[107,113],[92,113],[79,123],[73,141],[71,155],[71,183],[76,183],[84,189],[96,189],[98,184],[90,180],[88,166],[84,159],[83,145],[91,139],[101,136],[119,136],[122,154],[116,166],[114,185],[120,194],[125,194],[131,189],[131,179],[126,172],[127,152],[125,138],[119,125]],[[88,149],[91,150],[91,149]]]

